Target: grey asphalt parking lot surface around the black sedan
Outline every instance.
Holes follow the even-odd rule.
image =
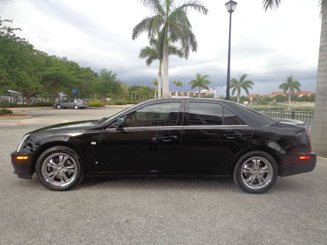
[[[0,120],[0,244],[326,244],[325,166],[261,195],[229,177],[86,178],[55,192],[13,174],[10,153],[25,133],[125,107],[15,109],[32,118]]]

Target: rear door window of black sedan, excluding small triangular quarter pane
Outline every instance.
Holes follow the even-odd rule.
[[[214,103],[190,102],[189,126],[223,125],[223,108]]]

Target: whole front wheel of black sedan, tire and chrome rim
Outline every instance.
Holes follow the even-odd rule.
[[[73,149],[54,146],[44,151],[38,158],[36,174],[46,188],[63,191],[74,188],[82,181],[84,166],[80,156]]]

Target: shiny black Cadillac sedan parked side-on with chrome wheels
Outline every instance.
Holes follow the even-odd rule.
[[[11,154],[14,173],[51,190],[84,176],[232,176],[250,193],[277,177],[312,171],[305,126],[285,124],[229,101],[156,99],[109,118],[26,134]]]

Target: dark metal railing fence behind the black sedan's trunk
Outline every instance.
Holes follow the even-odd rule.
[[[271,118],[286,118],[286,119],[295,119],[305,122],[310,132],[312,120],[313,120],[313,112],[309,111],[277,111],[277,110],[258,110],[256,111],[269,116]]]

